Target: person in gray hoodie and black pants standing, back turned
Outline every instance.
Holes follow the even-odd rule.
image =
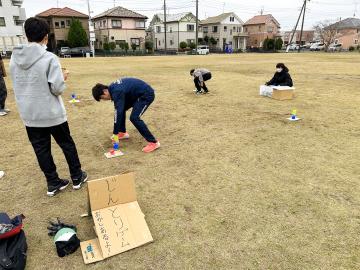
[[[50,27],[43,19],[29,18],[24,28],[29,44],[14,48],[10,73],[20,117],[47,180],[47,195],[54,196],[69,181],[60,179],[56,172],[51,136],[63,150],[74,189],[81,188],[87,174],[81,170],[61,98],[67,73],[63,73],[57,56],[46,50]]]

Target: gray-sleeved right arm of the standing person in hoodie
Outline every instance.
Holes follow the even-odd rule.
[[[47,76],[51,93],[60,96],[65,91],[66,85],[60,62],[56,57],[50,62]]]

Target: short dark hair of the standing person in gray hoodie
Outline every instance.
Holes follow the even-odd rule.
[[[29,42],[41,42],[50,33],[49,24],[41,18],[27,19],[24,28]]]

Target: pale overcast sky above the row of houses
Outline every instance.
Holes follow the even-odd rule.
[[[161,12],[163,0],[89,0],[92,16],[106,9],[122,6],[144,14],[151,20],[155,13]],[[191,11],[195,14],[195,0],[166,0],[171,14]],[[271,13],[280,22],[282,30],[294,27],[302,6],[302,0],[199,0],[199,16],[204,19],[216,16],[223,11],[235,12],[243,21],[254,15]],[[25,0],[23,7],[28,17],[52,7],[70,7],[88,13],[86,0]],[[310,29],[320,20],[360,17],[360,0],[311,0],[308,2],[305,28]]]

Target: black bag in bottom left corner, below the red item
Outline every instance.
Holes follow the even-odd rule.
[[[23,230],[0,240],[0,270],[23,270],[26,265],[27,243]]]

